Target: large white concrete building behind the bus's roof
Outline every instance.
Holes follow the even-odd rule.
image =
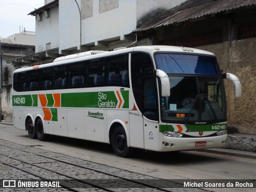
[[[36,54],[25,59],[30,60],[31,65],[38,65],[78,53],[80,45],[81,51],[88,51],[151,44],[148,39],[136,42],[136,34],[132,33],[141,18],[184,1],[45,0],[44,6],[29,13],[36,22]],[[17,66],[26,65],[22,59],[11,62]]]

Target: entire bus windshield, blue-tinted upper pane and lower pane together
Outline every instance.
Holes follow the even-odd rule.
[[[215,57],[160,53],[155,59],[170,81],[170,97],[160,99],[163,121],[226,121],[224,84]]]

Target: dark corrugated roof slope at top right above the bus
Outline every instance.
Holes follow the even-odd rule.
[[[155,30],[172,24],[180,24],[256,7],[256,0],[188,0],[163,14],[144,22],[134,32]]]

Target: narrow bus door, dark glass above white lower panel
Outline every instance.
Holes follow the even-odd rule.
[[[145,149],[158,150],[159,115],[155,77],[143,83],[143,128]]]

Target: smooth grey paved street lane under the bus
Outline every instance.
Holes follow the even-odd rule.
[[[109,144],[51,137],[42,142],[29,139],[27,132],[0,124],[0,139],[33,146],[67,156],[105,164],[115,168],[162,179],[248,179],[256,178],[256,160],[198,151],[159,153],[136,150],[131,158],[115,155]],[[231,191],[230,188],[211,188],[211,191]],[[234,191],[255,191],[239,188]]]

